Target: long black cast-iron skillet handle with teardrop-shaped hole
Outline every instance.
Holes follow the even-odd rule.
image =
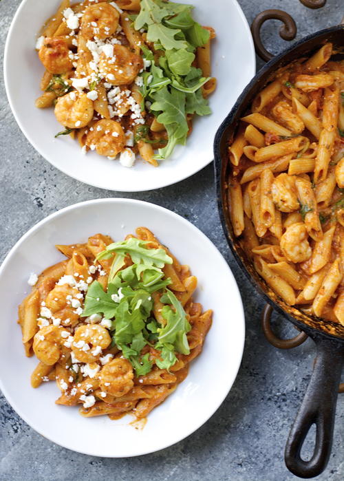
[[[303,403],[290,430],[285,461],[299,478],[313,478],[323,472],[330,457],[338,385],[344,363],[343,342],[316,337],[316,359]],[[316,441],[312,458],[301,459],[301,448],[316,425]]]

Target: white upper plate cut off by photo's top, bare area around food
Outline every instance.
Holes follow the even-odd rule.
[[[54,138],[63,130],[52,109],[36,109],[41,95],[39,82],[43,65],[34,50],[41,25],[57,9],[60,0],[23,0],[14,16],[6,41],[4,74],[8,100],[26,138],[54,167],[81,182],[112,191],[149,191],[179,182],[200,171],[213,160],[213,138],[217,127],[246,84],[255,75],[255,50],[248,23],[236,0],[188,0],[195,5],[195,18],[215,28],[213,76],[217,89],[210,98],[213,114],[195,120],[186,147],[178,146],[173,158],[160,167],[138,160],[127,169],[116,160],[84,155],[69,136]]]

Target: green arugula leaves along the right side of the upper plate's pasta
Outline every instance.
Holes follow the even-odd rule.
[[[193,6],[163,0],[141,0],[140,13],[133,25],[147,32],[147,41],[162,51],[159,61],[146,45],[142,54],[151,61],[147,72],[142,72],[140,87],[142,104],[151,103],[150,111],[167,131],[169,141],[159,149],[155,159],[171,155],[176,145],[184,145],[189,132],[188,114],[211,114],[201,87],[209,80],[202,71],[193,67],[195,50],[205,45],[210,33],[191,17]],[[143,107],[143,105],[142,105]]]

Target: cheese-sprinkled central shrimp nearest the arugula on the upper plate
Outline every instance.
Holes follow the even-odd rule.
[[[114,54],[100,54],[99,72],[106,77],[107,82],[114,85],[125,85],[134,81],[143,67],[142,58],[133,54],[123,45],[113,45]]]

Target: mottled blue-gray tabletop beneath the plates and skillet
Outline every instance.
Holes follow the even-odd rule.
[[[1,57],[19,3],[20,0],[0,2]],[[343,0],[327,0],[322,10],[308,10],[298,0],[239,0],[239,3],[249,23],[266,8],[287,10],[297,20],[297,39],[338,23],[344,14]],[[275,53],[286,46],[276,34],[277,28],[279,22],[270,21],[263,29],[266,45]],[[258,67],[261,65],[259,61]],[[217,215],[212,165],[189,180],[154,192],[103,191],[67,177],[34,151],[12,116],[3,85],[0,118],[0,260],[28,228],[69,204],[100,197],[147,200],[183,215],[219,248],[239,284],[247,328],[241,369],[222,407],[189,438],[151,455],[111,460],[68,451],[36,434],[1,397],[0,479],[292,480],[294,476],[283,462],[283,450],[310,379],[314,344],[307,341],[297,349],[283,352],[272,348],[261,334],[259,314],[263,303],[228,252]],[[277,324],[280,334],[294,334],[293,328],[285,323]],[[338,398],[330,462],[317,480],[344,478],[343,424],[344,394]],[[308,447],[306,454],[310,452]]]

